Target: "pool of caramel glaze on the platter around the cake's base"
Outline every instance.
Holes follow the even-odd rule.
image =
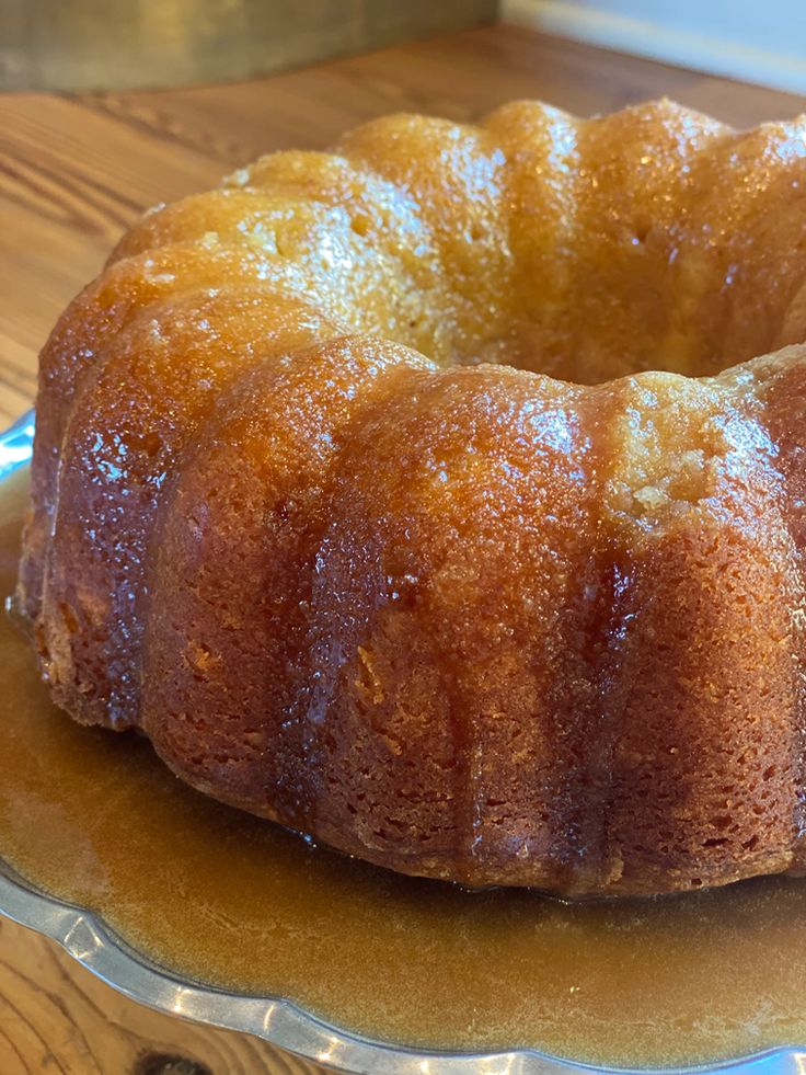
[[[0,489],[5,594],[25,494],[25,476]],[[806,1042],[804,881],[566,905],[407,878],[198,794],[135,733],[66,720],[9,617],[0,667],[0,854],[180,974],[426,1048],[689,1065]]]

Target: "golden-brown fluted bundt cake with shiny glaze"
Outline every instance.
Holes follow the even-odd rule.
[[[53,697],[406,873],[804,869],[805,338],[806,118],[398,115],[158,207],[42,355]]]

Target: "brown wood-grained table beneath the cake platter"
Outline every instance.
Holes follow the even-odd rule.
[[[0,98],[0,425],[31,405],[36,355],[112,243],[157,202],[261,152],[321,148],[400,110],[473,119],[511,98],[580,114],[667,94],[748,126],[804,111],[760,90],[497,26],[235,85]],[[0,1072],[312,1075],[263,1042],[118,996],[49,941],[0,923]]]

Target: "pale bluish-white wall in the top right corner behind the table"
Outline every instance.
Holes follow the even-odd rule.
[[[806,94],[806,0],[503,0],[505,22]]]

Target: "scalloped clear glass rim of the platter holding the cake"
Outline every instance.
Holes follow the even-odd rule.
[[[0,434],[0,481],[30,460],[33,434],[33,411]],[[247,996],[182,980],[134,950],[102,916],[43,893],[2,859],[0,914],[53,938],[88,970],[141,1004],[200,1023],[254,1034],[336,1071],[356,1075],[569,1075],[618,1071],[629,1075],[626,1068],[591,1067],[531,1049],[484,1054],[411,1050],[329,1026],[283,997]],[[667,1075],[671,1071],[667,1070]],[[725,1057],[721,1063],[686,1071],[806,1075],[806,1047]]]

